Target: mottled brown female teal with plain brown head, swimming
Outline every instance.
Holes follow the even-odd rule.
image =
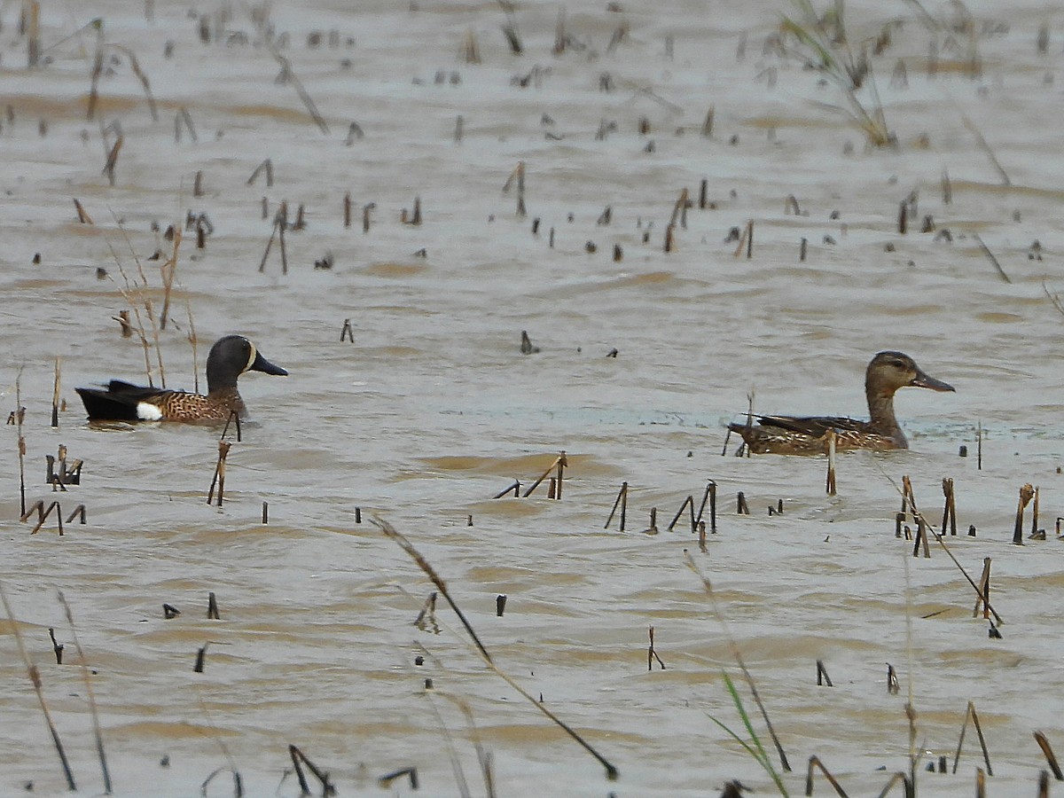
[[[907,385],[932,390],[954,389],[942,380],[928,377],[908,354],[880,352],[865,371],[868,421],[830,416],[754,416],[746,423],[730,423],[728,429],[742,435],[750,451],[758,454],[822,454],[827,451],[829,430],[836,433],[835,448],[838,450],[908,449],[909,442],[894,417],[894,393]]]

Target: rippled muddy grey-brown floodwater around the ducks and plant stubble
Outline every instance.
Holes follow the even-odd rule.
[[[837,111],[839,89],[766,44],[785,3],[567,3],[554,54],[561,7],[516,7],[518,55],[496,3],[277,3],[268,23],[287,79],[239,5],[49,5],[48,63],[29,71],[4,9],[3,415],[17,384],[28,503],[57,500],[65,516],[84,504],[87,522],[60,537],[51,518],[32,535],[18,521],[6,427],[0,577],[81,791],[103,781],[56,591],[124,796],[197,795],[228,767],[248,795],[298,795],[288,745],[339,795],[411,795],[406,779],[378,781],[403,768],[418,794],[462,795],[456,767],[485,794],[478,746],[500,796],[717,795],[731,779],[772,794],[713,721],[747,737],[727,672],[779,767],[730,638],[794,768],[792,795],[812,755],[851,795],[908,770],[909,702],[924,795],[970,795],[985,767],[969,726],[955,774],[924,769],[941,755],[952,767],[969,701],[990,795],[1035,793],[1035,730],[1064,749],[1064,318],[1047,296],[1064,290],[1064,19],[1035,2],[972,2],[968,20],[946,2],[925,2],[928,18],[916,4],[847,3],[855,48],[891,32],[872,65],[898,146],[869,149]],[[97,32],[84,26],[97,17],[107,48],[87,120]],[[470,40],[480,64],[465,57]],[[112,186],[101,170],[119,129]],[[272,185],[265,169],[250,182],[266,159]],[[516,178],[503,193],[521,163],[523,216]],[[683,189],[695,204],[665,252]],[[415,198],[422,221],[403,223]],[[95,223],[79,222],[74,199]],[[287,273],[278,242],[260,269],[281,201],[293,221],[304,209],[305,227],[285,234]],[[137,336],[112,318],[129,300],[160,382],[143,300],[157,319],[172,251],[162,231],[189,213],[211,232],[203,249],[194,230],[180,245],[159,331],[166,385],[194,386],[189,316],[201,389],[210,344],[232,332],[290,372],[243,378],[251,418],[240,442],[230,433],[220,508],[206,502],[220,429],[90,426],[73,390],[147,381]],[[920,232],[925,217],[933,229]],[[751,220],[750,256],[736,255],[729,233]],[[331,268],[315,269],[327,255]],[[539,351],[521,353],[522,330]],[[864,368],[882,349],[957,387],[898,395],[909,451],[841,456],[837,496],[822,458],[735,458],[734,437],[721,456],[724,425],[751,393],[755,412],[865,415]],[[56,358],[66,408],[52,429]],[[53,494],[45,459],[61,444],[84,467]],[[546,485],[492,498],[514,480],[523,492],[563,450],[560,501]],[[972,579],[993,559],[1000,639],[941,547],[914,559],[895,537],[902,476],[932,521],[954,479],[948,546]],[[717,532],[701,552],[689,523],[668,525],[709,480]],[[627,530],[616,518],[604,529],[622,482]],[[1017,547],[1025,483],[1041,488],[1048,539]],[[750,515],[735,513],[738,492]],[[652,509],[658,534],[645,532]],[[409,537],[498,668],[616,781],[485,666],[443,597],[415,626],[436,588],[375,517]],[[1025,537],[1030,525],[1028,508]],[[219,620],[206,618],[210,593]],[[165,619],[164,603],[181,614]],[[649,627],[661,664],[648,671]],[[0,793],[62,793],[7,619],[0,650]],[[818,660],[834,686],[817,686]],[[232,793],[228,771],[207,785]]]

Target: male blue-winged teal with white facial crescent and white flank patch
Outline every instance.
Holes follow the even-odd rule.
[[[206,356],[206,396],[167,390],[112,380],[103,388],[78,388],[93,421],[225,421],[236,411],[244,416],[244,400],[236,378],[245,371],[288,372],[263,358],[243,335],[218,338]]]

